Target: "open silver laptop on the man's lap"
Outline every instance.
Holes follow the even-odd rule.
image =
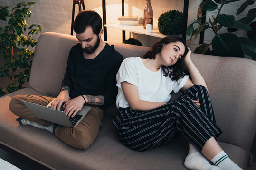
[[[57,123],[59,125],[63,125],[66,127],[75,127],[78,123],[84,119],[85,115],[91,109],[88,106],[83,106],[80,111],[76,113],[73,118],[67,118],[64,113],[64,109],[61,108],[60,110],[50,108],[49,103],[47,106],[42,106],[36,103],[22,101],[28,109],[35,115],[35,117],[43,120],[47,120],[49,122]]]

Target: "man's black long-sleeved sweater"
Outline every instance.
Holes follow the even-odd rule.
[[[79,43],[71,48],[61,88],[70,88],[70,98],[79,95],[102,95],[104,107],[115,103],[117,95],[116,74],[123,56],[114,46],[105,45],[94,59],[85,59]]]

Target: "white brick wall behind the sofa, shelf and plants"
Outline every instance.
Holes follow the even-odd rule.
[[[72,16],[72,4],[73,0],[0,0],[0,5],[10,5],[14,7],[20,1],[25,2],[36,2],[34,7],[31,8],[32,15],[27,21],[28,24],[40,24],[42,26],[42,32],[53,31],[62,34],[70,34],[71,29],[71,16]],[[90,10],[95,10],[102,16],[102,0],[84,0],[85,8]],[[237,8],[242,4],[242,2],[231,3],[225,5],[223,8],[223,13],[235,15]],[[190,0],[189,4],[189,16],[188,25],[196,19],[197,9],[202,0]],[[157,20],[161,13],[168,10],[176,9],[183,11],[183,0],[151,0],[154,18],[153,27],[157,27]],[[124,0],[124,11],[125,15],[138,15],[139,18],[143,18],[143,11],[146,5],[146,0]],[[252,8],[252,7],[250,7]],[[216,10],[217,11],[217,10]],[[216,15],[216,11],[208,13],[209,16]],[[247,15],[248,9],[239,15],[236,19],[245,17]],[[75,16],[78,13],[78,5],[76,5]],[[117,17],[122,14],[121,0],[106,0],[106,17],[107,23],[115,23]],[[208,17],[207,17],[208,18]],[[0,27],[4,26],[4,22],[0,21]],[[41,34],[40,33],[40,34]],[[35,35],[34,38],[38,39]],[[239,36],[246,36],[244,31],[238,31]],[[129,32],[126,31],[126,38],[129,38]],[[133,38],[139,39],[144,46],[152,46],[159,38],[154,38],[151,36],[146,36],[142,34],[131,34]],[[210,42],[213,33],[206,31],[205,42]],[[107,28],[108,41],[111,42],[122,42],[122,30]],[[188,45],[191,50],[199,44],[199,38],[197,40],[188,40]]]

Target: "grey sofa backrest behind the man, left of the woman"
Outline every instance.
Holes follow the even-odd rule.
[[[46,32],[40,35],[35,49],[29,86],[51,96],[57,96],[66,70],[71,47],[78,42],[75,36]],[[123,58],[142,56],[150,48],[122,43],[109,43]]]

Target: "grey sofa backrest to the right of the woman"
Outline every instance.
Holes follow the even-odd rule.
[[[256,133],[256,62],[192,54],[209,90],[220,141],[250,150]]]

